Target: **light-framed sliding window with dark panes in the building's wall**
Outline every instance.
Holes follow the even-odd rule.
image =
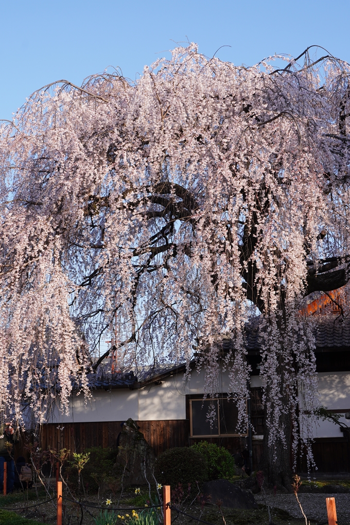
[[[238,408],[227,397],[206,399],[204,401],[203,397],[191,399],[189,407],[191,437],[247,435],[247,432],[238,434],[236,430]],[[208,414],[211,415],[210,419]]]

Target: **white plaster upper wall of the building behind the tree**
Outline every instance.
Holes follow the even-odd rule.
[[[348,409],[350,412],[350,372],[319,373],[320,404],[330,409]],[[228,392],[228,372],[219,377],[218,391]],[[251,387],[261,386],[259,376],[251,376]],[[93,398],[84,406],[83,396],[71,400],[69,416],[55,411],[55,423],[84,423],[103,421],[125,421],[132,417],[135,421],[157,421],[186,418],[186,394],[203,394],[204,372],[193,371],[190,379],[184,381],[183,374],[167,377],[161,385],[149,385],[129,390],[116,388],[109,392],[96,390]],[[342,418],[350,426],[350,421]],[[342,437],[338,425],[319,421],[314,427],[314,437]]]

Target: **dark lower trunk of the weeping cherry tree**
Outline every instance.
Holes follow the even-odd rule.
[[[269,428],[265,425],[262,455],[258,470],[262,470],[268,487],[276,487],[283,492],[292,492],[292,425],[290,414],[280,417],[280,425],[284,427],[285,443],[277,439],[275,446],[268,446]]]

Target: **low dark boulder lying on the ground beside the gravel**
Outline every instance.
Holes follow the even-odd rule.
[[[258,508],[251,492],[240,489],[227,479],[207,481],[203,485],[203,494],[207,503],[212,505],[221,505],[230,509],[250,510]]]

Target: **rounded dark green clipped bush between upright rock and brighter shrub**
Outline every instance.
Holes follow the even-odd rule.
[[[202,483],[208,479],[207,461],[192,447],[169,448],[156,460],[155,478],[162,485],[173,488],[179,483],[184,487],[188,483]]]

